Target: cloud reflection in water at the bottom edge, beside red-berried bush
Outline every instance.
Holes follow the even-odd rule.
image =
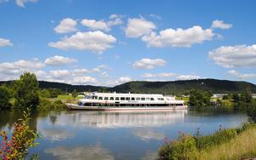
[[[44,151],[45,153],[52,154],[58,159],[74,159],[74,160],[84,160],[84,159],[104,159],[113,160],[114,157],[111,152],[103,148],[100,145],[96,146],[56,146],[54,148],[49,148]]]

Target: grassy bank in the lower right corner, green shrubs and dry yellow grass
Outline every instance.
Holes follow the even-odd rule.
[[[177,140],[166,140],[159,159],[241,159],[256,157],[256,125],[218,129],[211,135],[180,133]]]

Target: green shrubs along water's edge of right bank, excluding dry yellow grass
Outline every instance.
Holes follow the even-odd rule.
[[[159,159],[197,159],[201,153],[228,143],[237,135],[255,127],[255,123],[244,123],[238,129],[220,127],[218,131],[210,135],[202,135],[199,129],[194,136],[181,133],[177,140],[168,140],[160,147]]]

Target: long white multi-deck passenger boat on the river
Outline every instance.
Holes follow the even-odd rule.
[[[78,104],[67,104],[69,109],[95,111],[163,111],[183,110],[188,106],[183,100],[163,94],[118,94],[90,93],[80,99]]]

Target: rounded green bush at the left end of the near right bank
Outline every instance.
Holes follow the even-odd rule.
[[[177,140],[171,140],[161,146],[160,159],[189,159],[196,153],[195,139],[191,135],[180,133]]]

